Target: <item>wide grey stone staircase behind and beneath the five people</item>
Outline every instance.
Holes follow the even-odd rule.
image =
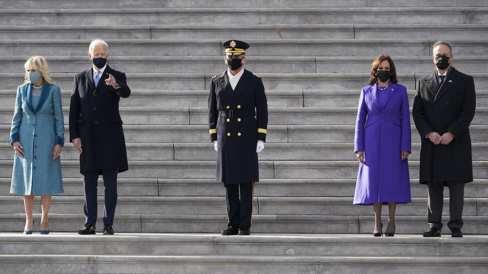
[[[0,7],[0,273],[486,271],[484,1],[0,0]],[[119,179],[117,234],[75,234],[84,221],[83,192],[78,154],[66,142],[65,192],[52,197],[52,233],[21,235],[22,199],[9,195],[8,136],[23,63],[32,55],[48,60],[67,123],[73,77],[90,66],[93,38],[108,42],[110,65],[127,74],[132,89],[120,104],[129,171]],[[227,218],[223,185],[215,182],[206,89],[225,69],[227,39],[251,45],[245,68],[262,76],[269,105],[250,237],[216,234]],[[433,70],[431,45],[438,39],[452,45],[453,66],[474,77],[477,91],[467,235],[421,237],[427,188],[418,184],[420,143],[412,120],[412,203],[397,208],[397,236],[373,238],[372,207],[352,205],[359,91],[372,60],[387,53],[413,100],[415,79]],[[67,139],[67,125],[65,131]],[[35,213],[40,219],[39,197]]]

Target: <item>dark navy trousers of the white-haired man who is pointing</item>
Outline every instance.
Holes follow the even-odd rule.
[[[86,222],[97,223],[97,186],[98,169],[83,173],[84,204]],[[115,207],[117,206],[117,169],[102,169],[103,185],[105,186],[105,208],[103,210],[103,224],[114,224]]]

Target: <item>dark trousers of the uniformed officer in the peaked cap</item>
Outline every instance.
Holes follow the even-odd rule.
[[[250,227],[252,215],[252,199],[254,195],[254,182],[227,184],[224,183],[225,202],[227,203],[227,226]],[[239,198],[239,190],[241,197]]]

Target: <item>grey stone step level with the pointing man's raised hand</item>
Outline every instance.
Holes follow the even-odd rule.
[[[154,90],[163,87],[165,90],[205,90],[208,89],[214,73],[131,73],[127,74],[127,83],[134,90]],[[263,79],[265,89],[269,90],[354,90],[360,91],[367,85],[369,78],[367,73],[338,74],[338,73],[259,73],[253,72]],[[73,87],[74,73],[57,74],[52,78],[61,90],[71,90]],[[407,87],[407,90],[415,90],[415,80],[427,75],[402,73],[398,74],[398,81]],[[488,89],[487,73],[471,73],[476,83],[477,90]],[[17,90],[23,83],[24,73],[0,73],[0,85],[3,90]],[[185,83],[182,85],[182,83]],[[123,99],[122,99],[123,100]]]

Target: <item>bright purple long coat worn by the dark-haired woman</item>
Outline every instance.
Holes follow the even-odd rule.
[[[378,93],[386,92],[384,103]],[[411,152],[410,109],[407,88],[388,83],[385,91],[377,84],[361,91],[356,119],[354,152],[364,151],[366,164],[359,164],[354,204],[411,202],[408,159]]]

